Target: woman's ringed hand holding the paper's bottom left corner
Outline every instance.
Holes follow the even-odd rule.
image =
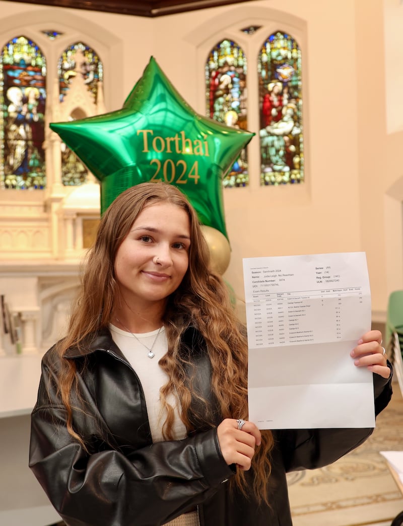
[[[238,429],[237,420],[226,418],[219,424],[217,436],[228,466],[237,464],[240,469],[247,471],[255,454],[255,447],[260,446],[261,442],[260,431],[255,424],[246,421],[242,429]]]

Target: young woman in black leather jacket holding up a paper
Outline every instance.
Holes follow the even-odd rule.
[[[368,332],[351,360],[374,372],[377,413],[391,396],[380,343]],[[289,526],[286,471],[333,462],[372,429],[260,432],[246,379],[245,330],[194,209],[174,186],[129,188],[43,358],[29,465],[69,526]]]

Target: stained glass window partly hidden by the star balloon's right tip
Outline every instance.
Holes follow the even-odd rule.
[[[223,40],[211,49],[206,62],[206,114],[220,123],[247,130],[246,57],[235,42]],[[242,150],[224,187],[249,182],[246,149]]]

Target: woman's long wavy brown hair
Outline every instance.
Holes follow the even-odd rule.
[[[84,351],[88,339],[96,332],[108,327],[118,299],[118,283],[115,275],[115,257],[122,241],[140,212],[156,203],[170,203],[183,208],[190,222],[189,265],[182,283],[168,298],[164,325],[168,340],[166,355],[160,366],[166,371],[169,381],[161,388],[161,398],[167,410],[163,426],[166,439],[172,439],[174,410],[167,403],[167,395],[174,388],[180,399],[181,418],[188,431],[192,429],[190,401],[192,379],[186,377],[188,358],[176,352],[177,341],[184,330],[193,326],[203,337],[211,362],[211,392],[213,393],[221,419],[247,418],[247,340],[234,308],[228,288],[223,279],[211,270],[209,249],[200,229],[197,214],[186,197],[176,187],[163,183],[142,183],[120,194],[103,215],[95,240],[83,262],[83,271],[78,300],[75,302],[67,330],[67,336],[55,346],[55,352],[63,358],[70,347]],[[61,360],[58,390],[67,410],[67,429],[84,448],[86,444],[73,427],[72,392],[76,388],[74,360]],[[75,392],[76,395],[79,393]],[[204,414],[197,420],[213,427],[213,414],[207,400]],[[254,493],[259,500],[267,502],[267,485],[270,475],[269,452],[273,447],[270,431],[262,433],[261,446],[253,458]],[[236,484],[245,493],[245,473],[237,470]]]

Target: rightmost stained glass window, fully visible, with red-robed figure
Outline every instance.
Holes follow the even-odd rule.
[[[301,183],[304,148],[301,52],[293,37],[277,31],[258,57],[261,185]]]

